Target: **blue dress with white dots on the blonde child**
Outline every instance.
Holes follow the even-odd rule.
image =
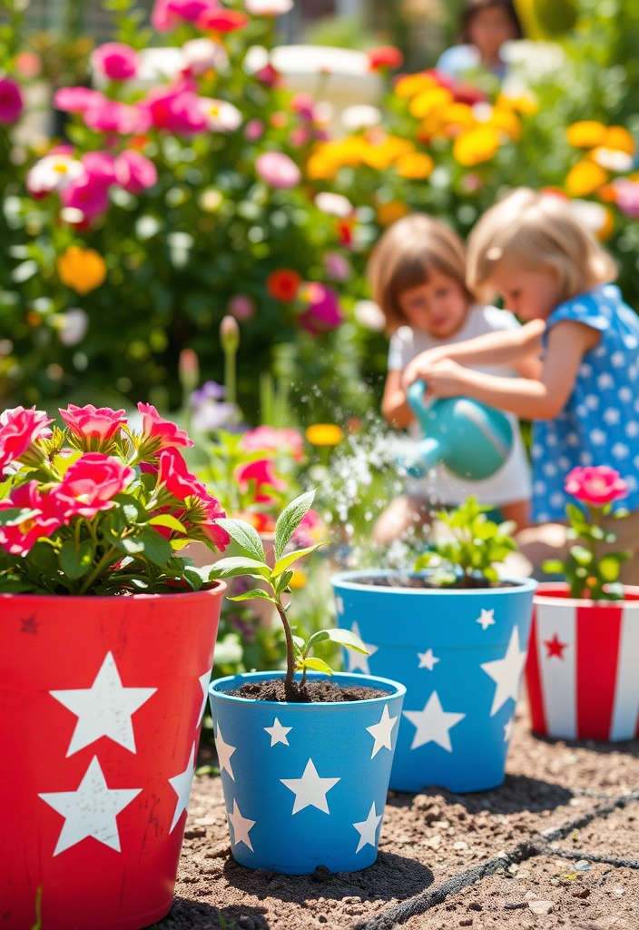
[[[577,465],[616,469],[629,494],[613,509],[639,511],[639,317],[619,287],[602,285],[559,304],[546,334],[561,320],[592,326],[601,339],[583,356],[566,407],[533,425],[533,519],[566,519],[564,479]]]

